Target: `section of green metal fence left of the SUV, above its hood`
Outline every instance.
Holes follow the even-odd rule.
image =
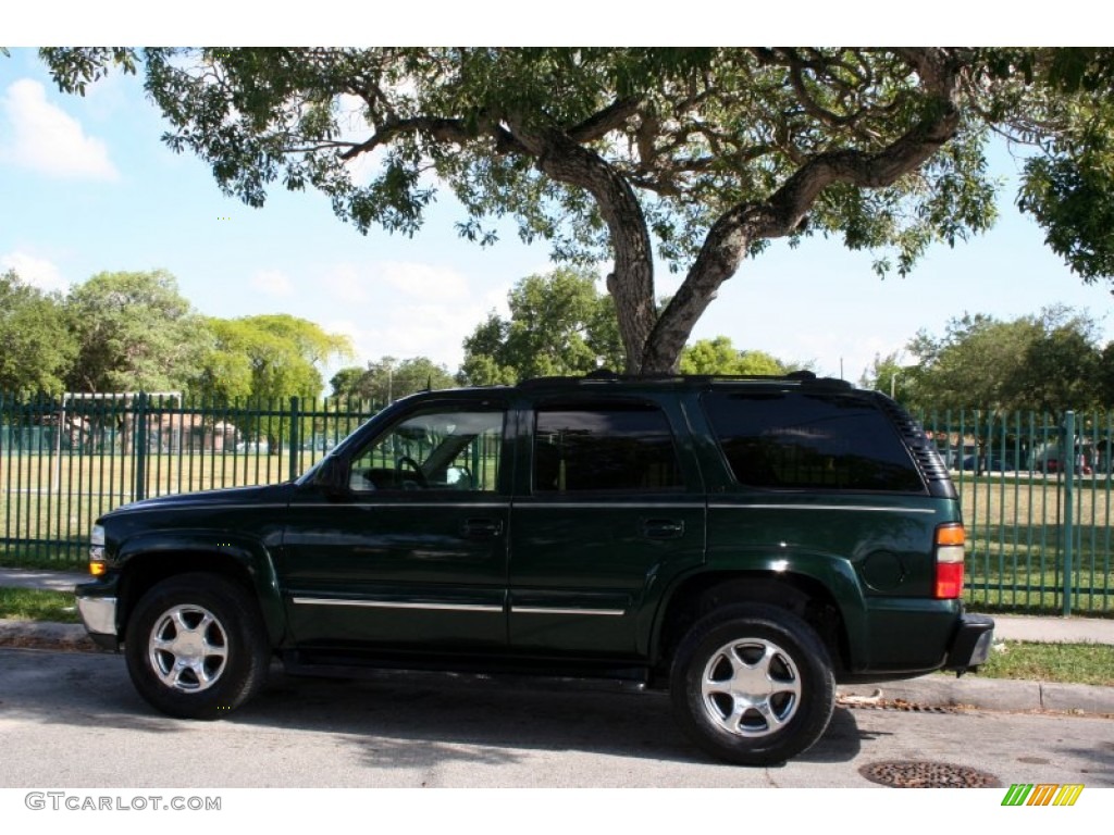
[[[295,478],[377,411],[290,397],[0,395],[0,564],[84,566],[94,520],[149,497]]]

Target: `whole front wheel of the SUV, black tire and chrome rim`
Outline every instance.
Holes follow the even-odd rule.
[[[216,719],[266,680],[270,648],[255,601],[216,574],[182,574],[144,595],[128,620],[128,675],[152,707]]]

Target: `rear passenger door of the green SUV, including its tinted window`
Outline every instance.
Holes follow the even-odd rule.
[[[676,573],[704,554],[705,502],[668,402],[549,400],[524,416],[510,646],[639,658]]]

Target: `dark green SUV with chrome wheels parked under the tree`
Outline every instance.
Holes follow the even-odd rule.
[[[98,520],[78,607],[159,710],[215,718],[273,657],[608,678],[712,755],[783,762],[836,684],[983,664],[964,528],[892,401],[788,377],[558,377],[394,403],[296,481]]]

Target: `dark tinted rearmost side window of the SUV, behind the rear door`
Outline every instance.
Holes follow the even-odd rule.
[[[925,491],[889,420],[841,392],[709,392],[704,409],[740,484],[784,490]]]

